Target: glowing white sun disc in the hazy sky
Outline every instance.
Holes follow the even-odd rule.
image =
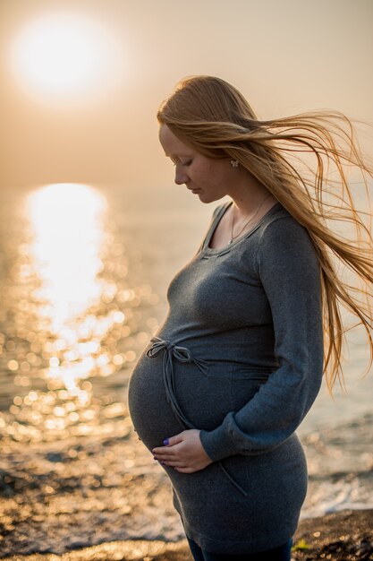
[[[99,22],[52,13],[29,22],[10,49],[17,81],[44,99],[73,99],[104,91],[119,75],[122,56]]]

